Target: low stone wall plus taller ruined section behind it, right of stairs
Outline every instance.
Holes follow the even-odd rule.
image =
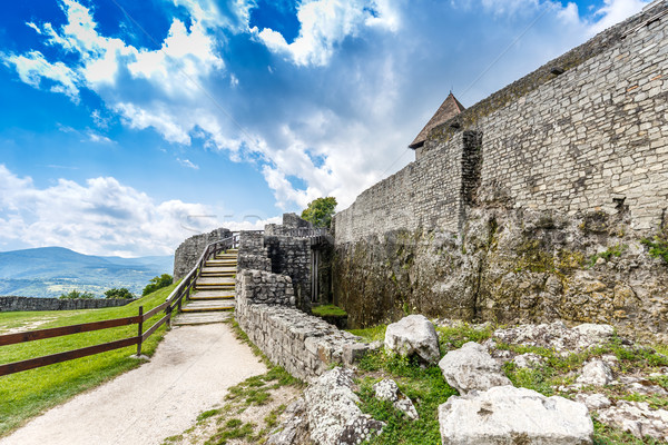
[[[295,277],[303,278],[304,258],[307,269],[310,245],[285,235],[294,228],[293,219],[286,215],[286,225],[272,225],[264,235],[240,233],[235,317],[273,363],[311,380],[332,365],[353,365],[369,345],[297,307],[302,286],[295,286]]]

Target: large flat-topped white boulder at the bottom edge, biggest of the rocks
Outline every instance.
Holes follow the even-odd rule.
[[[593,435],[583,404],[513,386],[452,396],[439,423],[443,445],[584,445]]]

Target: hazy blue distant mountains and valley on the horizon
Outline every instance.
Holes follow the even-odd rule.
[[[58,297],[72,289],[102,296],[112,287],[140,295],[156,275],[171,274],[173,256],[84,255],[63,247],[0,253],[0,295]]]

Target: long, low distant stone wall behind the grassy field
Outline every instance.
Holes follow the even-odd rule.
[[[38,297],[0,297],[0,313],[23,310],[78,310],[100,309],[104,307],[125,306],[134,299],[106,299],[106,298],[38,298]]]

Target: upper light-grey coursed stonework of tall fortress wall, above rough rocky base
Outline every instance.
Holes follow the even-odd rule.
[[[612,211],[623,200],[635,229],[656,229],[668,198],[668,18],[622,36],[665,9],[605,31],[434,129],[414,162],[336,215],[336,243],[396,228],[455,230],[463,188],[477,180],[481,202],[574,214]],[[605,51],[536,87],[551,67],[597,49]],[[482,162],[472,162],[478,172],[465,181],[478,150]]]

